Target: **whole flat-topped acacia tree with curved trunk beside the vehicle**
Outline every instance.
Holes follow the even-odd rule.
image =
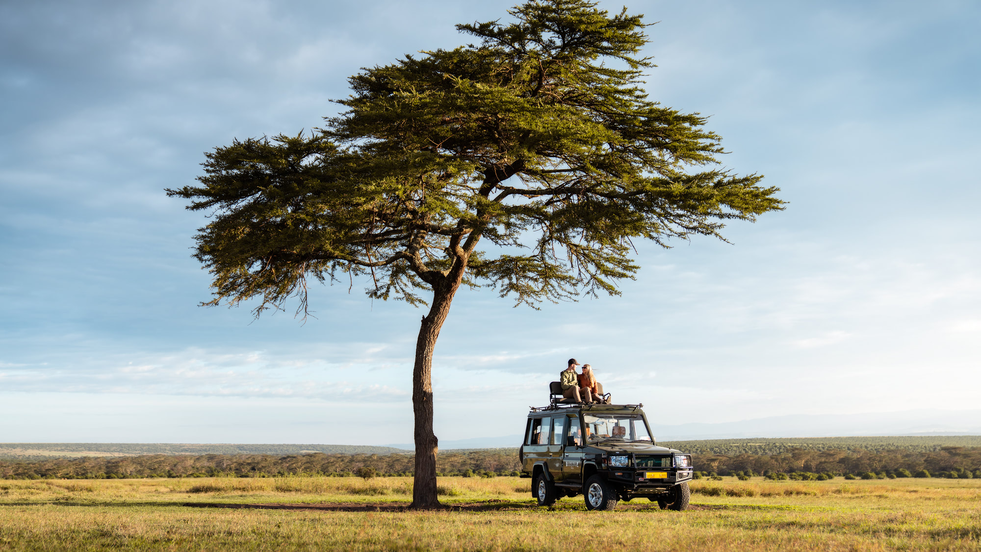
[[[721,238],[726,220],[783,203],[761,176],[719,167],[704,117],[647,98],[642,16],[585,0],[508,13],[457,26],[476,45],[362,70],[323,129],[236,139],[206,153],[201,186],[168,190],[214,212],[195,237],[206,304],[258,299],[259,315],[296,297],[305,313],[310,278],[367,275],[370,297],[429,307],[412,372],[416,508],[439,505],[431,368],[461,284],[532,306],[619,295],[639,269],[632,241]]]

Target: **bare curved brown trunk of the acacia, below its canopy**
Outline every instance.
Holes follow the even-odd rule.
[[[433,286],[433,305],[423,317],[416,341],[416,363],[412,370],[412,409],[415,412],[416,474],[410,508],[437,508],[436,455],[439,440],[433,433],[433,351],[439,329],[449,314],[449,304],[460,286],[459,279]]]

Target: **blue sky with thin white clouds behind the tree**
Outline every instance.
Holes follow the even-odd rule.
[[[234,138],[320,126],[360,68],[464,44],[454,24],[511,5],[0,2],[0,442],[411,442],[423,312],[363,281],[316,289],[305,323],[197,306],[206,219],[164,189]],[[521,432],[570,357],[645,403],[655,434],[977,415],[981,4],[627,8],[656,22],[650,96],[709,115],[725,166],[787,209],[728,244],[640,246],[620,297],[534,310],[461,290],[434,361],[439,438]]]

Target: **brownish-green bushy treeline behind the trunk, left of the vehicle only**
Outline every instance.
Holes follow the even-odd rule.
[[[411,454],[344,455],[147,455],[114,458],[0,461],[0,478],[270,477],[282,475],[354,475],[370,469],[379,475],[407,475],[415,469]],[[442,475],[517,474],[515,449],[440,453]]]

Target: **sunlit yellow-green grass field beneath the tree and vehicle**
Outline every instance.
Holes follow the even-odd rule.
[[[529,479],[446,477],[451,511],[404,512],[408,477],[0,480],[0,550],[981,549],[981,479],[692,487],[687,512],[587,512],[537,507]]]

